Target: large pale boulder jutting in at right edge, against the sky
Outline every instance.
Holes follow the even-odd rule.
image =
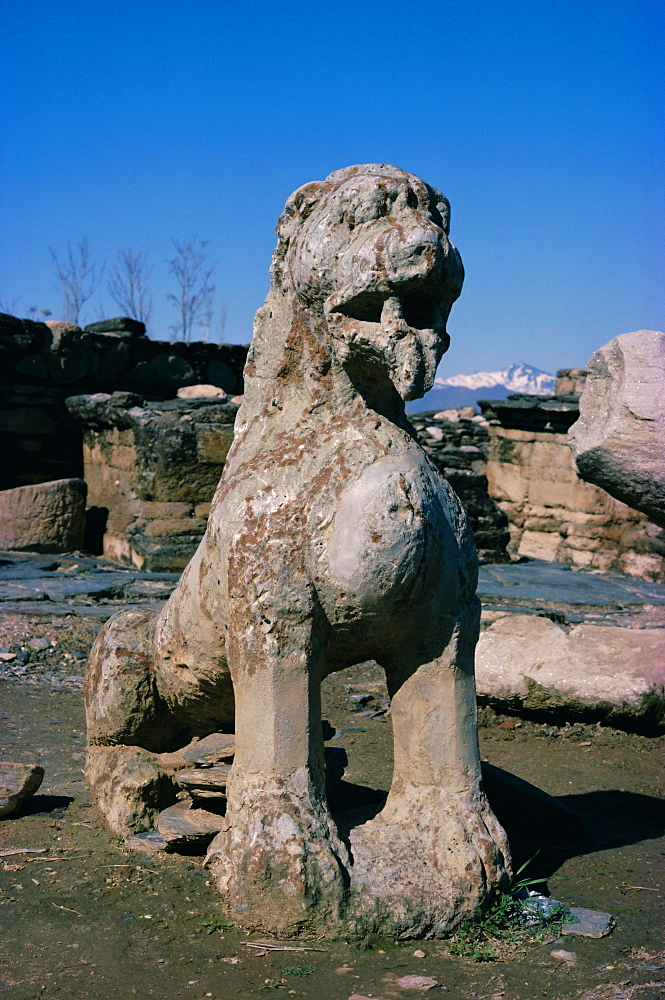
[[[665,333],[615,337],[587,371],[568,435],[579,474],[665,528]]]

